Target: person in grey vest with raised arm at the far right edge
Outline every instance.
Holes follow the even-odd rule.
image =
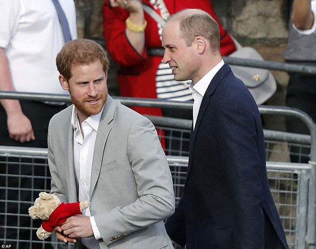
[[[283,57],[286,63],[316,66],[316,0],[294,0]],[[316,122],[316,75],[289,73],[286,106],[298,108]],[[310,134],[306,124],[286,117],[286,130]],[[289,147],[292,163],[308,164],[310,148]]]

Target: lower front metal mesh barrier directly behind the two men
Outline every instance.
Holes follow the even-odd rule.
[[[178,203],[185,184],[188,158],[167,156],[167,159],[172,174],[176,203]],[[25,167],[32,168],[32,175],[23,174]],[[1,196],[5,196],[0,199],[0,230],[3,231],[0,233],[0,244],[15,243],[17,248],[21,243],[29,241],[32,243],[30,248],[34,245],[41,245],[41,248],[46,248],[47,245],[55,247],[61,245],[62,243],[56,240],[39,241],[35,235],[39,224],[34,226],[34,221],[28,213],[21,213],[25,209],[22,208],[23,206],[30,207],[33,204],[40,191],[48,192],[50,189],[47,150],[0,146],[0,169],[0,193]],[[307,244],[307,235],[310,229],[313,229],[311,226],[315,226],[308,222],[310,218],[309,188],[311,179],[314,177],[312,165],[267,162],[267,171],[271,192],[279,210],[290,249],[303,249]],[[21,188],[19,185],[21,181],[29,181],[29,188]],[[18,199],[13,198],[14,192],[18,193]],[[23,199],[25,192],[32,193],[31,200]],[[18,207],[16,213],[7,213],[7,206],[10,204]],[[17,224],[8,224],[8,217],[14,217]],[[15,231],[16,234],[19,234],[21,230],[28,230],[30,237],[28,240],[8,239],[6,234],[9,230]],[[72,245],[70,244],[68,248],[72,248]]]

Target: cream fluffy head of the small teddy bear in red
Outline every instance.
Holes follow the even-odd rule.
[[[32,207],[29,207],[29,214],[32,219],[48,219],[49,215],[59,206],[60,200],[56,195],[40,192]]]

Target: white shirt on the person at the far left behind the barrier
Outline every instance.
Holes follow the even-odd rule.
[[[75,2],[59,3],[76,39]],[[55,61],[64,44],[51,0],[0,0],[0,47],[5,49],[15,91],[67,94],[58,82]]]

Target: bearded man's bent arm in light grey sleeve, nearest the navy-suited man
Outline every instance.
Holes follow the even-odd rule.
[[[170,169],[157,131],[147,119],[138,118],[131,125],[127,153],[139,198],[125,207],[93,215],[106,245],[114,236],[148,227],[174,212]]]

